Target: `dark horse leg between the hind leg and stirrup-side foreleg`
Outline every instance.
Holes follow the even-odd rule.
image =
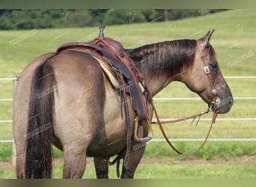
[[[97,179],[109,179],[109,158],[94,157],[94,166]]]

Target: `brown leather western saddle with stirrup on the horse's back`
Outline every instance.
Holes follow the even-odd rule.
[[[121,43],[112,38],[104,37],[104,28],[105,26],[100,26],[99,37],[91,42],[65,43],[58,47],[57,52],[70,49],[88,52],[100,63],[104,73],[112,82],[112,85],[118,89],[121,96],[121,114],[122,117],[125,114],[127,124],[128,152],[128,148],[131,147],[132,129],[129,121],[127,94],[135,111],[135,127],[133,131],[133,139],[135,141],[149,141],[153,136],[149,118],[149,108],[153,101],[147,86],[144,84],[141,73],[135,67],[134,61],[124,52]],[[147,128],[146,131],[144,131],[144,128]],[[147,132],[146,137],[144,137],[144,132]]]

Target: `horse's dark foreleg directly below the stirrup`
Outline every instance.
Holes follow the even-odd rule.
[[[121,174],[122,179],[133,179],[138,163],[141,161],[143,156],[145,147],[145,142],[132,142],[132,147],[129,151],[129,161],[127,163],[123,163]]]

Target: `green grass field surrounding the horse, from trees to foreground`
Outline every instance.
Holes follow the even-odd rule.
[[[208,30],[216,29],[213,34],[212,45],[216,50],[217,59],[224,76],[256,76],[255,47],[256,47],[256,12],[255,10],[228,10],[198,18],[183,19],[174,22],[150,22],[144,24],[107,26],[105,35],[113,37],[123,43],[125,48],[133,48],[147,43],[164,40],[196,39],[204,36]],[[61,28],[61,29],[33,29],[29,31],[0,31],[0,78],[19,75],[29,61],[38,55],[55,51],[62,43],[71,41],[89,41],[97,37],[98,28]],[[226,79],[235,97],[255,97],[256,79]],[[12,98],[13,82],[0,81],[0,99]],[[196,96],[185,85],[173,82],[156,97]],[[162,118],[184,117],[195,114],[207,105],[201,100],[174,100],[155,102]],[[206,116],[210,118],[211,115]],[[228,114],[219,118],[256,117],[256,100],[235,100],[234,106]],[[0,102],[0,120],[12,118],[12,102]],[[189,122],[165,125],[169,138],[204,138],[209,127],[209,121],[201,121],[198,126]],[[210,138],[256,138],[255,120],[217,119]],[[11,123],[0,123],[0,140],[12,138]],[[154,138],[162,138],[156,125],[153,125]],[[175,142],[184,151],[195,149],[200,142]],[[62,153],[55,150],[57,158]],[[228,160],[234,157],[256,156],[255,141],[249,142],[213,142],[210,141],[195,155],[206,165],[189,162],[189,157],[177,156],[165,142],[149,142],[144,154],[146,164],[138,168],[138,178],[255,178],[256,162],[235,162],[232,164],[216,165],[213,160],[221,158]],[[0,162],[8,163],[11,158],[11,144],[0,143]],[[156,158],[158,162],[150,165],[147,159]],[[162,163],[162,160],[172,159]],[[186,162],[186,164],[183,164]],[[161,164],[162,163],[162,164]],[[228,162],[227,162],[228,163]],[[198,165],[198,168],[195,168]],[[171,166],[171,167],[170,167]],[[56,168],[61,168],[58,163]],[[55,168],[55,169],[56,169]],[[114,168],[114,167],[112,167]],[[187,168],[187,173],[185,171]],[[192,169],[195,168],[195,169]],[[150,173],[152,169],[156,172]],[[86,176],[95,176],[91,167]],[[158,173],[166,172],[163,177]],[[180,171],[180,172],[178,172]],[[212,173],[211,173],[211,172]],[[115,176],[115,169],[111,171]],[[197,175],[194,173],[197,172]],[[55,177],[61,174],[56,172]],[[0,168],[0,178],[15,177],[13,170]],[[93,177],[92,177],[93,178]]]

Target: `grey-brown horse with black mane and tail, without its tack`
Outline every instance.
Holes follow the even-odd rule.
[[[224,114],[234,99],[210,44],[212,34],[209,31],[198,40],[164,41],[124,52],[135,62],[152,96],[173,81],[183,82],[210,106],[215,105],[217,96],[219,105],[213,111]],[[94,157],[97,178],[108,178],[110,157],[119,154],[124,159],[126,152],[127,126],[120,102],[99,62],[88,52],[65,50],[35,58],[22,70],[13,96],[16,177],[52,177],[53,144],[64,152],[63,178],[82,178],[87,156]],[[129,99],[127,102],[129,125],[134,128],[135,113]],[[145,146],[132,139],[121,178],[134,177]]]

